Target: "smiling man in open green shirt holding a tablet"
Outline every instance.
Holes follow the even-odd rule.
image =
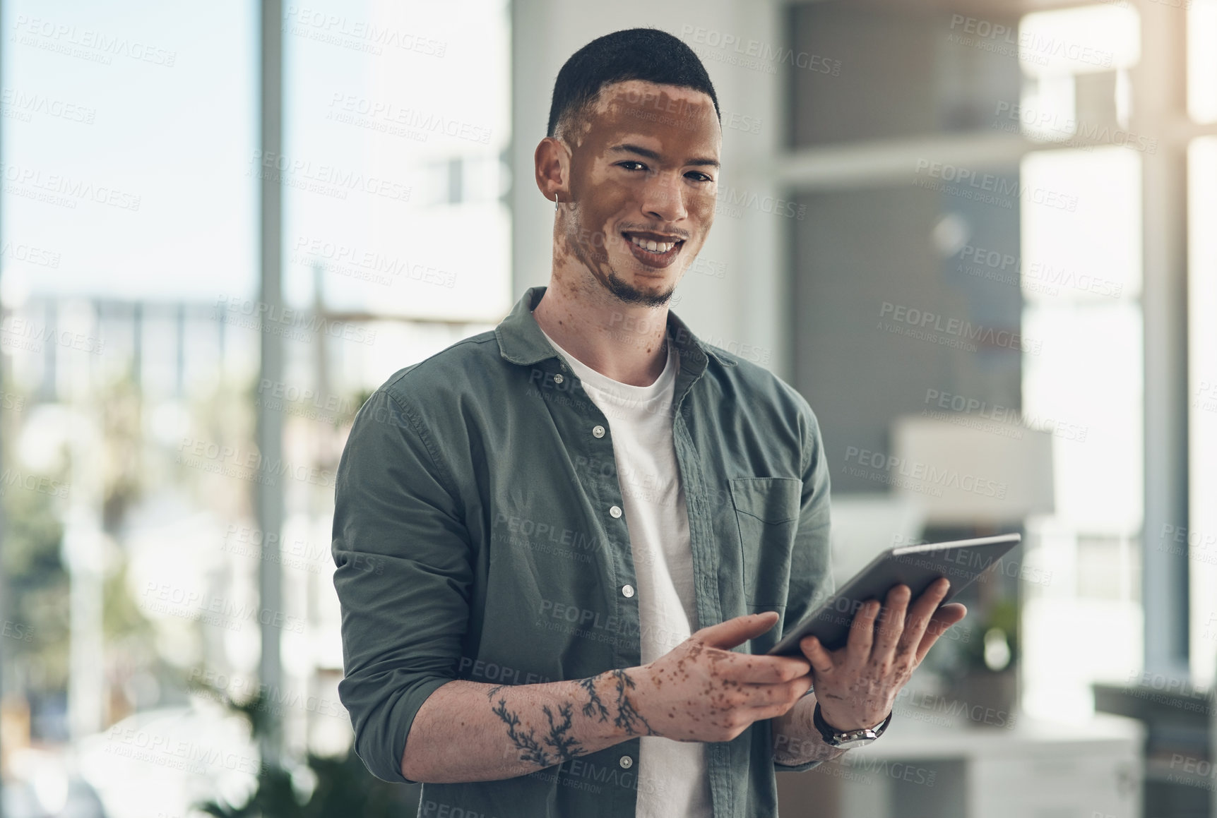
[[[355,418],[340,694],[369,769],[424,783],[420,816],[775,814],[774,771],[886,723],[964,615],[899,586],[846,648],[763,655],[832,592],[829,470],[807,401],[667,309],[720,143],[680,40],[581,49],[535,151],[549,287]]]

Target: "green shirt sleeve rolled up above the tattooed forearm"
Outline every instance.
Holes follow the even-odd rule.
[[[459,492],[417,414],[385,389],[359,410],[338,464],[333,587],[342,605],[354,750],[386,782],[402,774],[415,713],[456,678],[472,583]]]

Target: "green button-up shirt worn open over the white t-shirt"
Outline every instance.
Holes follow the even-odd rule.
[[[579,679],[641,664],[638,596],[608,422],[533,318],[533,287],[493,332],[400,369],[355,417],[332,554],[354,749],[388,782],[419,707],[456,678]],[[694,337],[672,433],[692,549],[695,628],[781,614],[759,654],[832,593],[829,469],[811,406]],[[626,586],[630,588],[624,589]],[[506,737],[504,735],[506,740]],[[460,741],[454,735],[453,740]],[[639,739],[497,782],[425,784],[420,816],[627,818]],[[716,818],[776,814],[769,720],[706,745]],[[644,782],[641,786],[647,786]],[[460,812],[464,811],[464,812]]]

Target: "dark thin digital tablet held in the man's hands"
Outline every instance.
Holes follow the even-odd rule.
[[[869,599],[885,603],[887,592],[901,583],[909,586],[909,591],[913,592],[909,598],[912,605],[935,580],[944,576],[950,580],[950,587],[941,603],[946,604],[997,564],[1002,555],[1021,540],[1022,535],[1003,534],[997,537],[888,548],[858,571],[828,602],[784,634],[769,654],[802,656],[798,642],[804,636],[817,637],[829,650],[845,647],[853,615],[862,605]]]

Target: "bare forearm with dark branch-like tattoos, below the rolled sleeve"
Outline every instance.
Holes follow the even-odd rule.
[[[645,735],[634,710],[636,670],[544,684],[449,682],[419,709],[402,774],[434,784],[500,780]]]

